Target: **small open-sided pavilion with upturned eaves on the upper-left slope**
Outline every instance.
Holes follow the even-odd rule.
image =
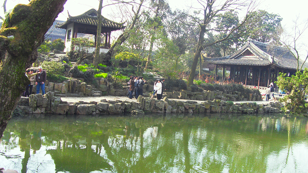
[[[71,50],[71,38],[85,37],[91,35],[94,41],[90,43],[89,53],[95,50],[96,35],[98,30],[98,11],[90,9],[78,16],[70,16],[64,23],[57,25],[57,28],[66,29],[65,36],[65,51]],[[110,49],[110,35],[112,31],[124,29],[123,24],[115,23],[104,16],[102,16],[102,31],[105,37],[105,43],[101,44],[100,52],[106,52]],[[93,37],[94,36],[94,37]]]

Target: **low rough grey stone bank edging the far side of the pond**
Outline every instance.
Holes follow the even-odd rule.
[[[136,99],[101,99],[100,101],[62,101],[53,92],[22,97],[17,106],[19,114],[145,114],[145,113],[280,113],[283,105],[276,102],[242,102],[214,100],[163,100],[140,96]]]

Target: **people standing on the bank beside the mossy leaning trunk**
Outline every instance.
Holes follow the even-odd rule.
[[[44,71],[42,67],[38,67],[35,73],[34,71],[34,69],[28,69],[26,71],[26,76],[30,80],[30,84],[27,85],[23,97],[29,97],[32,94],[34,83],[36,85],[36,94],[40,93],[40,88],[42,89],[42,94],[45,94],[46,71]]]

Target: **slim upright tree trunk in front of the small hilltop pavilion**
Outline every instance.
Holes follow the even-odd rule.
[[[102,7],[103,0],[100,0],[99,10],[98,10],[98,32],[97,32],[97,41],[96,41],[96,48],[95,54],[93,59],[93,65],[98,66],[99,59],[100,59],[100,50],[101,50],[101,32],[102,32]],[[107,37],[107,34],[106,34]]]

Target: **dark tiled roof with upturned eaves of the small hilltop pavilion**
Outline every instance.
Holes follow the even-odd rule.
[[[86,11],[85,13],[78,15],[78,16],[69,15],[69,17],[64,23],[59,24],[56,27],[66,29],[67,25],[71,22],[98,26],[98,11],[95,9],[90,9]],[[111,21],[105,18],[104,16],[102,16],[102,27],[112,28],[113,31],[125,28],[123,24],[119,24],[114,21]]]

